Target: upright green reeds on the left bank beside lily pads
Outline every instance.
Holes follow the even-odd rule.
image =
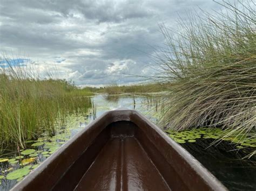
[[[39,80],[25,68],[0,66],[0,144],[18,144],[55,134],[68,113],[86,112],[91,95],[65,80]]]

